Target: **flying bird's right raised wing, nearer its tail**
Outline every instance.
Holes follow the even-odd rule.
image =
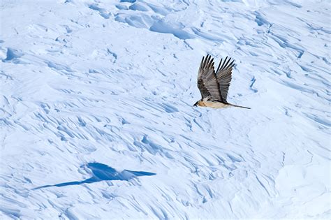
[[[223,59],[219,62],[219,67],[216,71],[216,79],[219,84],[219,91],[221,92],[222,101],[227,103],[226,97],[228,96],[228,90],[231,81],[232,68],[235,66],[234,60],[231,61],[231,57],[228,59]]]

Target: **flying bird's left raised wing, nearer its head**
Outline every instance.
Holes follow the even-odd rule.
[[[214,59],[210,55],[203,57],[198,72],[198,88],[203,98],[223,101],[219,90],[219,83],[214,70]]]

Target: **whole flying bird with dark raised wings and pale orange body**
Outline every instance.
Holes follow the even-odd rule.
[[[214,70],[214,59],[207,54],[203,57],[198,72],[198,88],[201,93],[201,99],[193,106],[199,105],[210,108],[226,108],[230,106],[248,108],[240,105],[233,105],[226,101],[231,81],[232,68],[235,66],[231,57],[219,62],[219,67]],[[250,108],[248,108],[250,109]]]

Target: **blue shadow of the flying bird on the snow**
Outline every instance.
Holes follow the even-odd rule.
[[[140,176],[152,176],[156,175],[156,173],[149,173],[144,171],[132,171],[132,170],[123,170],[122,172],[118,172],[114,168],[111,168],[110,166],[107,166],[102,163],[87,163],[86,165],[89,170],[91,170],[92,177],[89,179],[84,179],[82,181],[73,181],[73,182],[63,182],[60,184],[54,184],[54,185],[45,185],[45,186],[39,186],[34,189],[41,189],[51,186],[71,186],[71,185],[80,185],[80,184],[91,184],[94,182],[100,182],[103,180],[124,180],[128,181],[130,179],[133,179],[135,177]]]

